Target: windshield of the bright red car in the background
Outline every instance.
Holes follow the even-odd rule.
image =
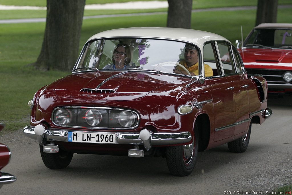
[[[255,29],[244,47],[292,49],[292,29]]]

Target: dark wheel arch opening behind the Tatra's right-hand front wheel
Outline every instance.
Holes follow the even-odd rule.
[[[204,151],[210,140],[210,119],[206,113],[202,113],[196,117],[195,123],[199,131],[199,151]]]

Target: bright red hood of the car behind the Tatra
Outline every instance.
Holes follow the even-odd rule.
[[[247,68],[249,68],[249,65],[285,66],[292,68],[292,50],[239,49],[239,53],[244,66],[247,66]]]

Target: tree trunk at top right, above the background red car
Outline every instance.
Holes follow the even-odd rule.
[[[261,23],[277,23],[278,0],[258,0],[256,26]]]

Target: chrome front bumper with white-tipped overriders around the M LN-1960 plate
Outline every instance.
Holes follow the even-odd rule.
[[[102,133],[97,131],[86,132]],[[38,140],[41,145],[44,144],[44,141],[68,141],[68,130],[46,129],[44,133],[35,133],[35,127],[27,125],[22,133],[31,139]],[[143,129],[139,133],[119,132],[115,134],[116,144],[144,144],[147,150],[151,146],[184,144],[192,140],[190,132],[153,133],[151,130]]]

